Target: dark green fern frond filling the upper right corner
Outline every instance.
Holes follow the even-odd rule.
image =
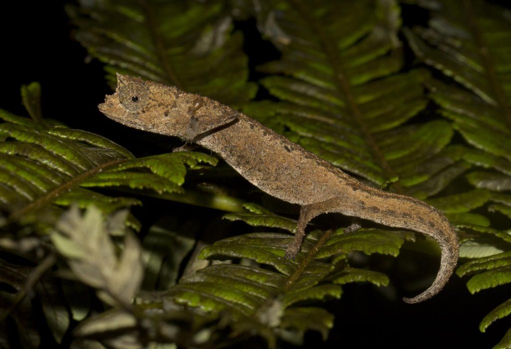
[[[511,88],[507,72],[508,33],[505,11],[479,0],[439,3],[429,28],[406,29],[417,57],[442,70],[473,93],[431,81],[431,97],[442,114],[487,159],[471,154],[469,161],[506,171],[511,166]],[[493,156],[492,156],[493,155]]]

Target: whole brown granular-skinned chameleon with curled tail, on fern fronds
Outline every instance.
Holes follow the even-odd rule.
[[[442,256],[429,288],[406,303],[438,293],[456,266],[456,232],[440,211],[413,197],[368,186],[260,122],[194,93],[117,74],[117,89],[99,110],[128,127],[179,137],[222,157],[241,176],[271,196],[300,206],[296,234],[286,258],[299,252],[311,219],[336,212],[432,237]]]

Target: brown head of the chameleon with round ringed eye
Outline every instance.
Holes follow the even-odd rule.
[[[175,87],[118,73],[115,93],[106,95],[105,103],[98,107],[103,114],[126,126],[180,136],[180,129],[185,128],[188,119],[180,111],[178,97]]]

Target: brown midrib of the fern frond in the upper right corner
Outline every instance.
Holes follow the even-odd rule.
[[[481,30],[478,26],[471,0],[463,1],[463,10],[465,18],[468,19],[468,27],[472,32],[472,37],[475,38],[476,45],[479,47],[479,54],[482,58],[484,71],[486,72],[486,79],[490,83],[490,87],[497,97],[497,103],[499,104],[500,109],[504,114],[504,118],[507,122],[509,130],[511,130],[511,106],[509,105],[504,90],[502,89],[502,86],[497,79],[497,74],[495,73],[495,63],[492,56],[490,55],[488,45],[486,44],[486,41],[484,40]]]

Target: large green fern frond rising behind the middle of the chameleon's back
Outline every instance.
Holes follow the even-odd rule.
[[[378,186],[398,175],[391,190],[419,198],[469,167],[458,148],[446,147],[448,122],[403,126],[426,107],[420,81],[428,74],[399,73],[396,3],[263,4],[260,28],[282,59],[261,67],[274,74],[261,83],[280,102],[254,103],[245,112],[263,122],[271,115],[271,126],[289,128],[293,141]]]

